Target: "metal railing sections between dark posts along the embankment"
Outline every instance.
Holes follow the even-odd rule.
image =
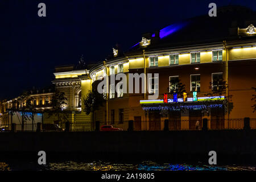
[[[101,126],[106,125],[105,122],[100,122]],[[114,128],[127,131],[129,129],[129,121],[108,123]],[[134,131],[161,131],[164,130],[164,121],[133,121]],[[16,131],[35,132],[38,125],[36,123],[24,123],[23,129],[21,124],[16,124]],[[53,123],[44,123],[41,131],[64,131],[66,124],[59,125]],[[169,119],[168,130],[201,130],[203,127],[203,119]],[[242,130],[244,127],[244,119],[208,119],[208,130]],[[256,129],[256,118],[250,118],[250,128]],[[11,131],[11,125],[0,124],[0,131]],[[69,123],[69,131],[95,131],[96,123],[93,122],[73,122]]]

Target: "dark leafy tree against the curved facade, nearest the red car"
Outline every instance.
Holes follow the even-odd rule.
[[[103,94],[98,93],[96,89],[93,89],[92,91],[89,90],[86,97],[83,98],[84,100],[84,112],[86,115],[89,115],[92,113],[93,117],[93,123],[94,123],[94,115],[95,111],[100,109],[100,106],[103,106],[105,103],[105,98]]]

